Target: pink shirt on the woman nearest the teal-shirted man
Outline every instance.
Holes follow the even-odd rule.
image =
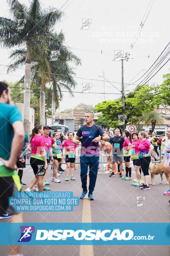
[[[41,156],[41,149],[45,148],[45,140],[43,136],[40,135],[34,135],[34,137],[31,139],[31,154]],[[43,158],[42,158],[43,159]]]

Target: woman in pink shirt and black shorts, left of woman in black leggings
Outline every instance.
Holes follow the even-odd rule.
[[[140,186],[140,178],[141,178],[141,174],[140,174],[140,160],[139,160],[139,144],[141,142],[141,140],[138,139],[138,132],[135,131],[132,134],[133,137],[133,141],[131,144],[131,159],[133,160],[133,166],[135,168],[135,172],[136,172],[136,182],[132,183],[131,185],[134,186]]]

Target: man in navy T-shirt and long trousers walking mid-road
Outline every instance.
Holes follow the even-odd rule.
[[[99,165],[99,140],[109,140],[108,135],[99,125],[93,123],[94,113],[85,113],[86,125],[83,125],[77,131],[76,137],[73,139],[74,144],[79,144],[79,139],[82,136],[82,149],[80,154],[80,177],[82,181],[82,195],[80,199],[84,199],[87,194],[87,172],[89,171],[89,193],[88,199],[94,200],[93,191],[96,184],[97,171]],[[100,136],[101,137],[100,137]]]

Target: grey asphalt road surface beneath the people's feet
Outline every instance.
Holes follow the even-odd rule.
[[[65,165],[62,165],[65,169]],[[74,171],[76,180],[65,181],[65,173],[60,175],[61,183],[51,183],[51,191],[72,191],[74,196],[79,196],[82,192],[78,164]],[[100,164],[99,174],[97,176],[96,187],[94,190],[95,201],[89,201],[87,198],[80,200],[79,206],[74,207],[73,212],[24,212],[24,222],[170,222],[170,204],[169,196],[163,195],[167,190],[165,176],[163,175],[163,184],[159,184],[161,178],[156,175],[155,186],[150,185],[150,190],[141,190],[138,187],[131,186],[131,181],[121,180],[116,175],[109,177],[108,174],[102,174],[103,166]],[[34,177],[30,166],[24,171],[23,182],[29,184]],[[132,177],[135,178],[134,169]],[[143,176],[142,176],[143,177]],[[47,180],[51,181],[51,169],[48,169]],[[25,187],[23,187],[25,189]],[[136,196],[145,197],[142,207],[136,207]],[[9,219],[0,220],[8,222]],[[0,256],[7,256],[9,247],[0,246]],[[23,245],[21,253],[24,256],[169,256],[170,247],[163,245]]]

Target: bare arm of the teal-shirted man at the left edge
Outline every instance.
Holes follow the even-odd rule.
[[[21,121],[16,121],[12,124],[14,129],[14,137],[11,144],[11,154],[9,160],[4,160],[0,158],[0,160],[4,163],[7,168],[17,170],[17,158],[21,152],[21,145],[24,142],[25,134],[24,134],[24,125]]]

